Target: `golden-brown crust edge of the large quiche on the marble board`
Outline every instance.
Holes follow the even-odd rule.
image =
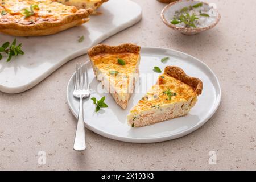
[[[9,22],[9,23],[0,23],[0,31],[1,30],[20,30],[20,31],[30,31],[30,30],[45,30],[47,28],[52,28],[52,27],[61,27],[64,26],[65,24],[74,22],[76,20],[81,20],[80,24],[88,22],[88,16],[93,13],[93,9],[80,9],[77,10],[76,13],[72,15],[68,15],[64,18],[61,18],[55,22],[40,22],[40,23],[35,23],[35,24],[19,24],[19,23],[14,23],[14,22]],[[77,25],[80,25],[77,24]],[[76,26],[76,25],[75,25]]]

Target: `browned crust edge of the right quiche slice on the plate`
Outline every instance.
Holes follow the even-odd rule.
[[[184,84],[191,86],[197,95],[200,95],[203,91],[203,82],[199,78],[188,76],[183,69],[179,67],[167,66],[164,69],[164,74],[174,77],[177,80],[184,82]]]

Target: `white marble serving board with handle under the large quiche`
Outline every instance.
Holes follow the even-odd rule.
[[[67,61],[85,54],[90,47],[142,18],[141,7],[130,0],[110,0],[98,11],[102,14],[90,16],[88,23],[55,35],[17,38],[25,54],[9,63],[6,57],[0,61],[0,91],[20,93],[32,88]],[[77,41],[79,36],[85,38],[81,43]],[[0,34],[0,44],[13,39]]]

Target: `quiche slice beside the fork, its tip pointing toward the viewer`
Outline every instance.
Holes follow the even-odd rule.
[[[126,109],[139,77],[140,50],[135,44],[99,44],[88,51],[97,80],[122,109]]]

